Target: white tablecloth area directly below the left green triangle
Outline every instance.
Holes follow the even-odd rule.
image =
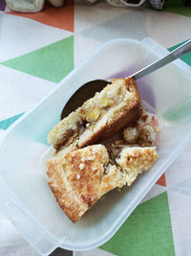
[[[56,83],[0,65],[0,121],[36,105]]]

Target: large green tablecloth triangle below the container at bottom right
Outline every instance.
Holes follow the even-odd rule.
[[[117,256],[174,256],[167,193],[138,205],[116,235],[100,248]]]

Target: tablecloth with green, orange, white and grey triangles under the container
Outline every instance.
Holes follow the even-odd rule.
[[[150,8],[114,8],[69,0],[39,13],[11,12],[0,0],[0,135],[107,40],[152,37],[170,48],[191,37],[191,8],[166,1]],[[183,58],[191,65],[191,55]],[[191,255],[191,144],[138,205],[117,234],[94,255]],[[57,250],[53,255],[72,254]],[[0,255],[37,255],[0,213]]]

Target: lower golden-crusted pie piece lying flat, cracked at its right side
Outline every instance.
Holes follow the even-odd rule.
[[[76,222],[106,193],[130,186],[158,157],[154,147],[124,147],[115,165],[105,146],[88,146],[50,159],[49,185],[60,207]]]

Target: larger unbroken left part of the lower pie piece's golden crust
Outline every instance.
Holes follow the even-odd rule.
[[[53,195],[71,221],[77,221],[98,199],[99,183],[108,162],[102,145],[71,151],[47,162]]]

